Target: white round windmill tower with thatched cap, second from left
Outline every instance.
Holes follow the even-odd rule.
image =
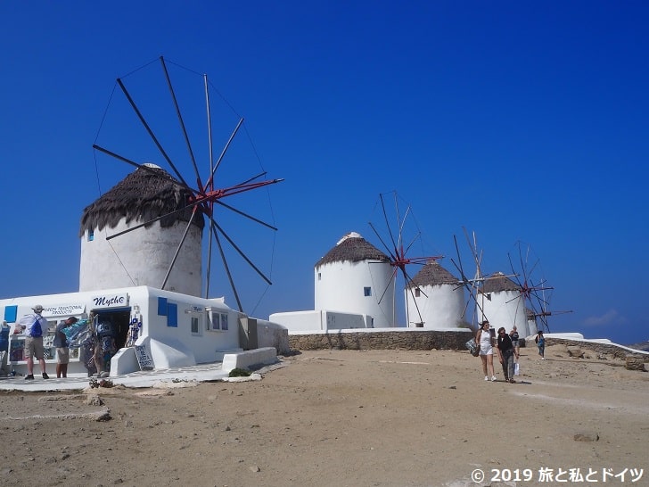
[[[390,258],[356,232],[341,240],[315,266],[315,309],[369,315],[374,327],[394,326]],[[390,296],[383,296],[384,290]]]

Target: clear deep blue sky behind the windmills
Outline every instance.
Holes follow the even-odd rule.
[[[130,171],[92,144],[145,154],[115,79],[145,98],[159,65],[129,73],[164,55],[225,98],[215,152],[241,115],[249,174],[284,178],[240,203],[274,237],[231,227],[272,266],[269,289],[240,277],[255,316],[312,309],[341,235],[381,248],[368,222],[396,191],[448,270],[453,235],[470,259],[463,228],[486,273],[522,241],[550,309],[574,311],[552,331],[647,340],[648,21],[643,2],[2,2],[0,297],[78,289],[81,212]],[[211,289],[234,306],[223,277]]]

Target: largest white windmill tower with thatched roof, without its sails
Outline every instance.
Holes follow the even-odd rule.
[[[146,164],[88,205],[79,232],[79,291],[149,285],[200,296],[204,220],[201,213],[191,219],[191,208],[183,210],[190,196],[167,171]],[[158,217],[164,218],[151,221]],[[149,223],[131,230],[143,222]]]

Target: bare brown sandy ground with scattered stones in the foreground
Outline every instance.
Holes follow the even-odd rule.
[[[566,485],[542,472],[603,483],[627,468],[607,485],[649,485],[649,373],[620,361],[522,349],[518,384],[499,364],[484,382],[465,351],[305,351],[283,366],[258,382],[0,392],[2,483]]]

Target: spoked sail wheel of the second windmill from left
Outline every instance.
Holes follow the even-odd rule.
[[[422,312],[419,309],[417,301],[415,300],[415,290],[419,288],[413,284],[412,276],[407,267],[410,265],[423,266],[431,260],[441,259],[442,256],[429,256],[429,257],[412,257],[410,254],[413,252],[415,244],[421,244],[421,231],[416,223],[415,216],[410,205],[403,202],[398,197],[396,191],[391,192],[391,204],[386,205],[386,194],[379,194],[379,202],[375,206],[375,210],[381,205],[379,219],[382,220],[382,225],[374,225],[371,221],[369,226],[372,228],[374,235],[381,242],[385,252],[390,258],[390,266],[392,267],[392,274],[390,282],[382,290],[379,297],[379,302],[384,299],[389,299],[389,291],[391,290],[392,299],[395,299],[396,293],[394,292],[398,277],[404,281],[404,290],[412,298],[415,303],[415,317],[407,317],[407,326],[415,324],[415,326],[423,326]],[[406,210],[399,208],[399,201],[403,206],[406,204]],[[421,292],[421,290],[419,290]],[[424,294],[425,295],[425,294]]]

